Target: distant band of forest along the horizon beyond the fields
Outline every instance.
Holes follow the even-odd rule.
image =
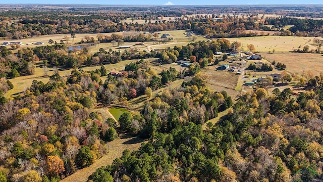
[[[257,8],[259,7],[255,9]],[[210,9],[213,11],[210,11]],[[56,12],[39,10],[4,11],[0,12],[0,37],[22,39],[59,33],[107,33],[183,29],[191,29],[199,34],[205,34],[210,37],[243,37],[258,35],[258,33],[253,34],[246,30],[276,31],[284,25],[294,25],[290,28],[290,31],[294,33],[296,31],[302,32],[301,34],[297,33],[297,36],[308,36],[308,34],[315,36],[322,33],[321,20],[286,18],[288,13],[281,15],[281,18],[268,19],[268,17],[264,18],[264,14],[267,13],[265,10],[255,10],[253,13],[250,13],[245,11],[245,7],[234,7],[232,9],[232,12],[236,12],[235,14],[230,14],[230,11],[223,7],[219,9],[214,7],[187,7],[181,11],[176,9],[177,13],[175,13],[174,9],[166,7],[159,9],[155,7],[119,7],[115,9],[106,8],[106,10],[100,10],[99,8],[94,10],[71,9]],[[240,13],[244,14],[241,15]],[[163,18],[167,16],[174,19]],[[145,20],[145,23],[122,22],[122,20],[126,19]],[[272,27],[266,25],[272,25]],[[261,35],[265,35],[265,33]],[[282,35],[286,35],[286,33]]]

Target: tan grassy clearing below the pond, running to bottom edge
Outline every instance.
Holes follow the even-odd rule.
[[[131,151],[138,150],[143,143],[142,139],[139,138],[118,138],[107,144],[108,153],[98,159],[94,164],[89,167],[80,169],[74,174],[61,180],[62,182],[75,182],[75,181],[87,181],[90,176],[97,168],[102,166],[111,165],[113,160],[122,156],[124,150],[129,149]]]

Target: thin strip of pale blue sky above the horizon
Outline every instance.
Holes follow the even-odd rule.
[[[0,0],[0,4],[100,4],[100,5],[279,5],[323,4],[322,0]]]

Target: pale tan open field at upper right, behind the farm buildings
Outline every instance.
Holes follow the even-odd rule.
[[[241,50],[248,51],[247,45],[253,44],[255,52],[289,52],[294,49],[302,50],[304,45],[309,45],[309,50],[315,49],[311,45],[315,37],[298,37],[298,36],[257,36],[257,37],[240,37],[227,38],[230,42],[241,42]]]

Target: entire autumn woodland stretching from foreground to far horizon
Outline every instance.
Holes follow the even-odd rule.
[[[0,182],[60,181],[106,155],[109,142],[120,135],[144,142],[138,150],[123,151],[112,165],[98,168],[88,181],[266,182],[290,181],[295,173],[305,181],[321,179],[323,74],[303,71],[300,77],[287,72],[287,66],[278,60],[277,64],[250,60],[239,72],[248,66],[249,71],[277,69],[280,76],[257,78],[247,92],[232,98],[229,89],[228,93],[210,89],[206,72],[207,67],[228,58],[217,52],[235,53],[241,48],[240,42],[225,37],[267,35],[264,31],[320,36],[322,20],[287,16],[322,18],[321,11],[320,6],[0,7],[3,38],[98,33],[96,39],[85,36],[80,43],[111,42],[115,47],[124,42],[160,44],[170,39],[159,38],[157,32],[101,33],[189,29],[208,39],[157,51],[135,47],[68,50],[67,35],[61,42],[49,39],[48,45],[35,48],[0,46]],[[264,17],[266,13],[280,16]],[[131,19],[131,23],[124,22]],[[284,29],[286,26],[291,27]],[[317,47],[313,52],[320,53],[322,41],[312,41]],[[255,51],[252,44],[247,48]],[[300,48],[295,50],[299,54],[309,52],[308,45]],[[133,61],[118,72],[109,73],[105,67],[125,60]],[[179,60],[190,65],[182,69],[171,66]],[[240,61],[245,60],[241,57]],[[164,65],[155,70],[152,64]],[[5,97],[14,88],[10,80],[35,74],[36,65],[42,66],[49,81],[35,78],[30,87]],[[84,71],[86,66],[98,67]],[[71,69],[70,74],[60,75],[63,69]],[[278,87],[267,89],[273,84]],[[140,99],[137,109],[121,114],[118,120],[98,111],[127,107],[136,99]]]

